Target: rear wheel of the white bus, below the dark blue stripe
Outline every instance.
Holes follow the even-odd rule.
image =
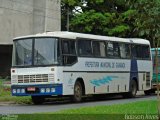
[[[131,80],[131,83],[130,83],[130,91],[128,93],[128,97],[129,98],[133,98],[133,97],[136,97],[136,93],[137,93],[137,83],[135,80]]]

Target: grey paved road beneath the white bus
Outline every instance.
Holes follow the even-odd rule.
[[[1,104],[0,114],[30,114],[39,112],[53,112],[64,109],[74,109],[80,107],[99,106],[99,105],[112,105],[123,104],[135,101],[155,100],[156,95],[144,96],[139,94],[136,98],[122,99],[120,96],[108,97],[105,100],[93,101],[88,100],[83,103],[71,103],[71,102],[50,102],[43,105],[15,105],[15,104]]]

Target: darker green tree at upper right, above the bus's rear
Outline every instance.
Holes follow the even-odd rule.
[[[133,2],[135,2],[133,4]],[[135,9],[135,22],[133,36],[150,40],[152,47],[153,41],[160,40],[160,1],[159,0],[130,0],[130,8]]]

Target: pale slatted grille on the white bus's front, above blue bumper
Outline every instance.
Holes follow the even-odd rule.
[[[48,79],[48,74],[18,75],[18,83],[46,83],[48,82]]]

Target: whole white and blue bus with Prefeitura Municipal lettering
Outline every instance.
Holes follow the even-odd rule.
[[[67,31],[13,40],[11,92],[31,96],[34,104],[54,96],[74,102],[109,93],[135,97],[151,89],[151,79],[148,40]]]

